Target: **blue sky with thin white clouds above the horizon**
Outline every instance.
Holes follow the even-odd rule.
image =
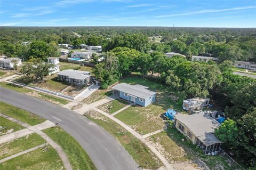
[[[0,0],[1,26],[256,27],[256,0]]]

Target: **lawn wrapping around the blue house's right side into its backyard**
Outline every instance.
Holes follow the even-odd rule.
[[[149,87],[149,90],[157,92],[156,101],[147,107],[132,106],[119,114],[116,118],[131,126],[140,134],[147,134],[157,131],[165,126],[162,114],[169,108],[182,112],[182,104],[174,101],[175,96],[170,94],[166,85],[142,79],[139,76],[127,76],[120,81],[121,83],[140,84]]]

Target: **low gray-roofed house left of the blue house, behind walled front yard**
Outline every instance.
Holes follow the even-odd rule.
[[[63,70],[58,73],[60,80],[65,80],[70,84],[86,85],[91,83],[91,75],[89,71],[80,70]]]

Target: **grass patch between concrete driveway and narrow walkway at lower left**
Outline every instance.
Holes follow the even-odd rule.
[[[0,159],[9,157],[21,151],[34,148],[37,145],[43,144],[44,139],[36,133],[20,137],[11,142],[0,145]]]

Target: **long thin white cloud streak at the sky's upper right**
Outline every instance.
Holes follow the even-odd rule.
[[[256,6],[234,7],[230,9],[221,9],[221,10],[209,9],[209,10],[200,10],[200,11],[185,12],[185,13],[170,14],[170,15],[159,15],[159,16],[156,16],[156,18],[176,17],[176,16],[202,14],[202,13],[216,13],[216,12],[225,12],[225,11],[238,11],[238,10],[247,10],[247,9],[255,9],[255,8]]]

